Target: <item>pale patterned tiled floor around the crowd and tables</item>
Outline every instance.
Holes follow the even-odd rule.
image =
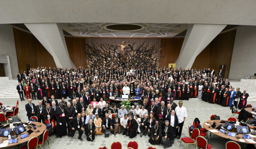
[[[15,106],[16,105],[17,99],[2,99],[0,102],[10,105],[10,106]],[[33,100],[32,101],[34,104],[37,105],[38,100]],[[176,104],[178,104],[178,101],[174,101]],[[19,108],[20,108],[20,113],[18,114],[18,117],[21,118],[22,121],[27,121],[27,116],[26,116],[26,110],[25,110],[25,104],[27,104],[26,101],[20,102]],[[256,106],[255,102],[250,103],[252,106]],[[219,115],[221,119],[227,119],[228,117],[231,116],[231,110],[230,107],[222,107],[217,104],[209,104],[201,99],[190,99],[189,101],[183,101],[183,106],[187,108],[187,115],[188,117],[186,118],[185,124],[183,126],[183,131],[182,131],[182,136],[181,137],[188,137],[188,130],[187,130],[187,125],[191,126],[192,122],[194,121],[194,118],[198,117],[199,120],[201,121],[201,125],[203,122],[209,120],[210,115],[216,114]],[[237,118],[237,116],[235,116]],[[90,148],[90,149],[98,149],[98,147],[102,145],[106,145],[108,149],[110,149],[110,145],[113,141],[118,140],[119,142],[122,143],[123,149],[127,147],[127,143],[129,140],[136,140],[139,144],[140,149],[146,149],[147,147],[150,146],[150,143],[148,142],[149,137],[143,136],[143,137],[135,137],[133,139],[129,139],[126,136],[122,136],[122,134],[118,134],[116,136],[113,136],[110,134],[109,138],[105,138],[103,135],[101,136],[96,136],[95,140],[93,142],[88,142],[86,140],[86,136],[83,134],[82,139],[83,141],[78,140],[78,132],[76,132],[75,136],[73,138],[64,136],[62,138],[57,138],[55,136],[52,136],[54,143],[52,140],[49,139],[49,144],[51,149],[82,149],[82,148]],[[225,148],[225,143],[226,139],[220,138],[218,136],[214,136],[212,134],[211,137],[208,137],[209,144],[213,145],[214,149],[220,149],[220,148]],[[171,148],[181,148],[185,149],[186,145],[184,143],[180,145],[181,139],[175,139],[174,145],[172,145]],[[158,149],[163,149],[162,145],[154,145]],[[18,148],[18,147],[16,147]],[[48,149],[47,144],[43,145],[44,149]],[[245,145],[242,145],[241,148],[245,148]],[[193,147],[188,147],[188,149],[193,149]]]

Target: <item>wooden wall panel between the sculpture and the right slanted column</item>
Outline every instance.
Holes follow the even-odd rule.
[[[175,63],[180,54],[180,50],[183,44],[184,38],[162,38],[161,39],[161,49],[163,59],[159,62],[159,67],[168,67],[168,64]]]

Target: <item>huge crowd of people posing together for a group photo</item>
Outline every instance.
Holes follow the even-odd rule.
[[[182,100],[200,98],[222,106],[233,104],[245,108],[249,96],[236,91],[222,70],[193,70],[159,68],[157,70],[116,67],[103,68],[31,68],[28,74],[17,75],[17,91],[21,101],[28,99],[27,116],[35,115],[43,123],[56,123],[56,135],[73,137],[76,130],[79,139],[85,130],[88,141],[95,135],[110,133],[134,138],[137,134],[149,136],[151,144],[170,147],[175,138],[180,139],[187,117]],[[37,99],[38,105],[30,104]],[[140,97],[141,106],[125,109],[106,103],[112,96],[122,94]],[[65,101],[66,98],[68,102]],[[60,103],[58,100],[61,99]],[[238,100],[240,99],[239,103]],[[174,103],[178,101],[178,105]],[[58,130],[67,131],[58,131]]]

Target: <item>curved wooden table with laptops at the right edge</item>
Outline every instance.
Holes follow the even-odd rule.
[[[212,127],[209,128],[209,126],[211,126],[214,121],[216,122],[215,125],[217,125],[217,126],[216,126],[215,128],[212,128]],[[206,121],[206,122],[203,123],[203,127],[204,127],[207,131],[209,131],[210,133],[213,133],[213,134],[215,134],[216,136],[219,136],[219,137],[222,137],[222,138],[225,138],[225,139],[231,139],[231,140],[234,140],[234,141],[240,142],[240,143],[256,144],[256,142],[255,142],[255,143],[251,143],[251,142],[247,141],[246,139],[244,139],[244,138],[242,137],[242,134],[238,134],[238,135],[236,135],[236,137],[240,137],[240,139],[244,140],[245,142],[241,142],[241,141],[240,141],[239,139],[237,139],[236,137],[228,136],[228,131],[226,132],[226,134],[225,134],[225,133],[222,133],[222,132],[219,132],[216,128],[217,128],[220,124],[222,124],[223,126],[225,125],[225,123],[220,123],[220,121],[222,121],[222,120],[210,120],[210,121]],[[206,125],[205,123],[209,123],[210,125]],[[247,125],[248,125],[248,124],[247,124]],[[241,126],[241,125],[239,125],[239,126]],[[251,127],[251,125],[248,125],[248,126]],[[223,128],[223,129],[225,129],[225,128]],[[218,132],[211,132],[211,130],[215,130],[215,131],[217,130]],[[225,130],[226,130],[226,129],[225,129]],[[235,127],[231,132],[235,132],[235,133],[236,133],[236,127]],[[250,134],[251,134],[251,132],[250,132]],[[256,137],[256,136],[255,136],[255,137]],[[254,138],[252,138],[252,137],[251,137],[251,139],[254,140]]]

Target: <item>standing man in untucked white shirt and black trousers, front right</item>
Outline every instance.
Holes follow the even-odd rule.
[[[178,127],[177,130],[176,130],[176,136],[177,136],[177,139],[180,139],[181,137],[181,133],[182,133],[182,127],[183,127],[183,124],[184,124],[184,121],[185,121],[185,118],[187,117],[187,110],[186,110],[186,107],[183,107],[183,102],[182,101],[179,101],[179,106],[177,106],[175,108],[175,112],[176,112],[176,115],[178,116]]]

